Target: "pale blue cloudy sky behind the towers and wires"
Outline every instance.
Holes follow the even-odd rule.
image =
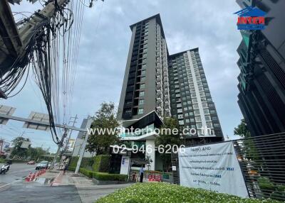
[[[86,1],[87,2],[87,1]],[[39,4],[26,1],[12,11],[36,11]],[[242,37],[237,31],[239,11],[229,0],[105,0],[86,7],[78,57],[70,116],[78,115],[76,126],[93,116],[103,101],[118,105],[125,64],[130,45],[130,25],[160,13],[169,53],[199,48],[212,99],[217,108],[224,136],[234,136],[234,127],[242,119],[237,104],[237,47]],[[16,108],[14,116],[27,118],[31,111],[46,113],[46,106],[32,76],[20,94],[0,104]],[[51,133],[22,128],[23,123],[9,121],[0,125],[0,137],[11,141],[23,134],[32,146],[56,151]],[[71,137],[76,138],[73,132]]]

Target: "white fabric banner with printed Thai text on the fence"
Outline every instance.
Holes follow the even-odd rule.
[[[248,197],[232,142],[180,148],[180,185]]]

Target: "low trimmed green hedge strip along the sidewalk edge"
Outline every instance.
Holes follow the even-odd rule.
[[[123,181],[128,180],[128,175],[121,174],[110,174],[107,172],[95,172],[92,170],[87,170],[86,168],[80,168],[79,172],[90,178],[95,178],[96,180],[113,180],[113,181]]]

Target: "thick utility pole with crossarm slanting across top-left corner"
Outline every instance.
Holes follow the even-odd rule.
[[[0,76],[10,70],[17,58],[26,53],[26,47],[30,43],[32,35],[47,21],[49,21],[58,9],[66,6],[69,0],[48,1],[45,7],[31,16],[26,24],[18,29],[14,21],[11,8],[7,0],[0,1]],[[0,90],[0,97],[6,95]]]

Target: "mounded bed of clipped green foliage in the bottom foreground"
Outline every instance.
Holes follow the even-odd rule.
[[[125,202],[219,202],[219,203],[274,203],[272,199],[243,199],[229,194],[210,192],[208,190],[170,185],[162,182],[137,183],[125,189],[118,190],[106,197],[100,198],[98,203]]]

